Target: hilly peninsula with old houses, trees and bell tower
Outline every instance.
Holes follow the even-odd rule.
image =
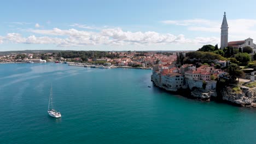
[[[228,43],[228,28],[224,13],[220,49],[204,45],[154,65],[154,85],[189,98],[256,107],[256,45],[251,38]]]

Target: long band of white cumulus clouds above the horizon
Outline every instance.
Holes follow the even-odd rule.
[[[107,28],[100,32],[77,29],[28,29],[34,34],[45,35],[22,37],[19,33],[8,33],[3,40],[22,44],[56,44],[58,46],[83,45],[150,45],[150,44],[216,44],[218,38],[185,38],[183,34],[160,34],[157,32],[130,32],[121,28]]]

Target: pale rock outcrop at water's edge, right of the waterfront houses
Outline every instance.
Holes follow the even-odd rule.
[[[222,89],[222,99],[232,104],[256,107],[256,88],[240,87],[240,91],[233,91],[231,87]]]

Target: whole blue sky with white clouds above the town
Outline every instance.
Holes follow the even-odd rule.
[[[197,50],[256,38],[255,1],[4,1],[0,51]]]

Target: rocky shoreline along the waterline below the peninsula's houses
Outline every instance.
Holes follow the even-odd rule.
[[[221,103],[231,104],[234,106],[256,107],[256,87],[249,88],[237,85],[240,91],[234,92],[232,87],[225,87],[217,94],[216,91],[207,91],[203,88],[181,88],[177,91],[171,91],[158,83],[152,81],[154,86],[164,89],[172,94],[178,94],[189,99],[197,99],[202,101],[218,101]]]

